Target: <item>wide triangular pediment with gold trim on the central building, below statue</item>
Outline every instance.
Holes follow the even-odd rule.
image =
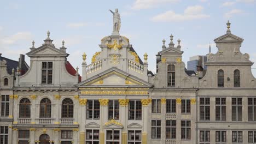
[[[146,81],[139,79],[125,73],[117,68],[111,68],[96,76],[91,77],[83,82],[80,82],[78,86],[146,86],[152,85]]]

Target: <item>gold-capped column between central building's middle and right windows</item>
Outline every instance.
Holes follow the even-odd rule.
[[[129,99],[119,99],[119,118],[120,123],[123,124],[122,129],[122,144],[127,143],[127,105],[129,104]]]

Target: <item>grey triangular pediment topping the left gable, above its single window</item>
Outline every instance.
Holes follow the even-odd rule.
[[[56,49],[53,45],[43,45],[27,53],[28,56],[68,56],[68,53]]]

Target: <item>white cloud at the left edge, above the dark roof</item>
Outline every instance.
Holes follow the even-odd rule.
[[[10,35],[7,38],[0,39],[0,45],[16,44],[19,40],[31,40],[32,34],[30,32],[18,32]]]

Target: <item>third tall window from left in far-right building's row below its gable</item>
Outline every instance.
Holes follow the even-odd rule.
[[[242,98],[232,98],[232,121],[242,121]]]

